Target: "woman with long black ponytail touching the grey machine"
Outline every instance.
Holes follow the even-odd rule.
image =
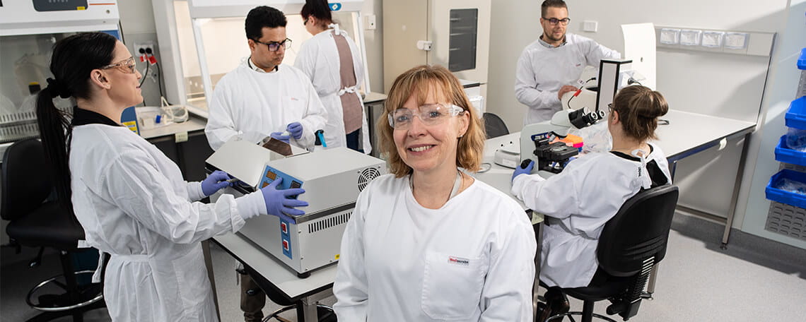
[[[185,182],[176,164],[119,124],[123,109],[143,101],[142,76],[113,36],[60,40],[50,69],[54,78],[37,100],[39,130],[60,201],[74,211],[87,244],[111,255],[103,287],[112,320],[218,320],[200,242],[238,231],[249,217],[281,215],[290,192],[267,187],[193,202],[227,186],[228,176]],[[76,98],[72,121],[54,107],[56,96]]]

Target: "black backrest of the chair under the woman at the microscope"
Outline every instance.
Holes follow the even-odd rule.
[[[666,255],[678,195],[677,187],[663,185],[626,200],[599,237],[599,266],[609,275],[625,277],[642,270],[647,258],[654,256],[654,263],[660,262]]]

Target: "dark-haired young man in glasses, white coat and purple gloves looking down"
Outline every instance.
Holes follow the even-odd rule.
[[[285,14],[270,6],[249,11],[251,56],[218,81],[210,99],[205,133],[213,150],[238,134],[251,142],[271,136],[312,149],[315,132],[325,129],[326,111],[308,76],[282,64],[291,44],[286,23]]]

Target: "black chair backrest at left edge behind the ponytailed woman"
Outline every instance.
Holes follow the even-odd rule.
[[[53,190],[51,173],[39,138],[8,147],[2,159],[0,217],[13,221],[42,205]]]

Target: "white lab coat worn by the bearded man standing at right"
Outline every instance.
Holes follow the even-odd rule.
[[[527,106],[524,125],[549,121],[562,106],[557,93],[576,81],[588,65],[599,68],[605,58],[619,58],[618,52],[581,35],[566,33],[560,47],[543,46],[535,40],[523,49],[515,69],[515,97]]]

